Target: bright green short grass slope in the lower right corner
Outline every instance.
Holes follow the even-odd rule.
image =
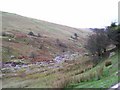
[[[109,88],[112,85],[118,83],[118,76],[116,73],[118,72],[118,55],[116,54],[109,58],[108,60],[112,61],[112,65],[108,67],[104,67],[104,73],[100,80],[91,80],[88,82],[80,82],[77,84],[70,84],[68,87],[71,88]],[[91,69],[87,72],[93,72],[98,67],[104,66],[105,62],[100,63],[95,68]]]

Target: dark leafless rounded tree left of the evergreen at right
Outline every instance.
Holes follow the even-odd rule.
[[[92,55],[102,56],[109,45],[109,38],[104,29],[96,29],[95,34],[89,36],[86,48]]]

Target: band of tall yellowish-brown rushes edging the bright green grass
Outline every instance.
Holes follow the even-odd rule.
[[[64,88],[67,87],[70,84],[74,83],[80,83],[80,82],[88,82],[93,80],[100,80],[102,78],[102,75],[104,73],[104,67],[99,66],[94,71],[86,72],[83,70],[77,70],[76,72],[72,74],[59,74],[57,77],[59,77],[53,84],[53,87],[55,88]]]

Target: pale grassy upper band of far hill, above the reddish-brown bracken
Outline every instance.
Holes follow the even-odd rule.
[[[18,30],[22,32],[34,31],[43,34],[49,34],[50,36],[57,35],[57,37],[70,36],[73,33],[77,33],[80,37],[84,37],[84,33],[80,29],[49,23],[37,19],[27,18],[16,14],[2,12],[2,26],[3,30]],[[54,37],[54,36],[53,36]]]

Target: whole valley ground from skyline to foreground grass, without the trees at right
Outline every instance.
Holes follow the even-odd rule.
[[[109,88],[119,52],[95,65],[84,48],[93,32],[1,12],[3,88]]]

